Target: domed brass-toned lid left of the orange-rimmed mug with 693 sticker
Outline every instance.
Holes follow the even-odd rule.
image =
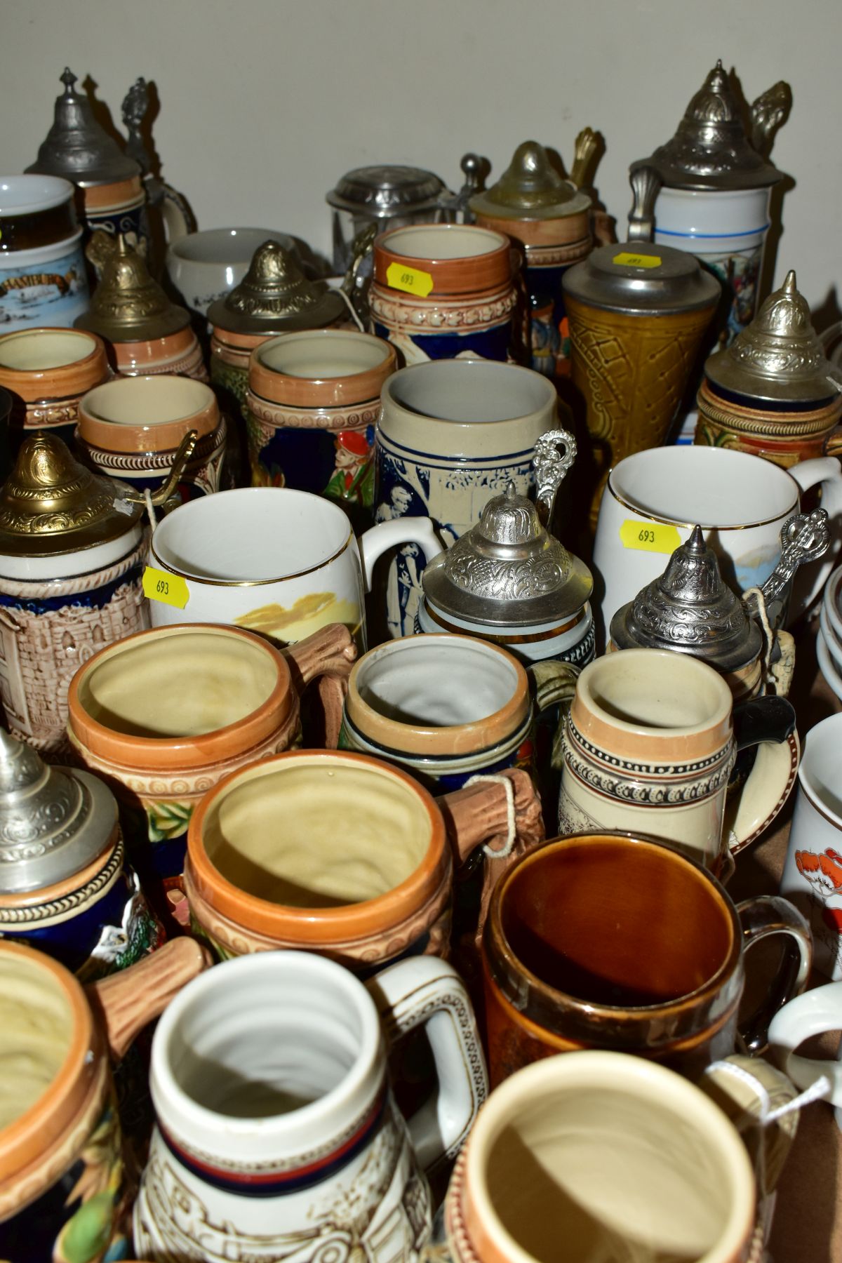
[[[289,250],[264,241],[240,284],[211,303],[207,318],[232,333],[287,333],[335,325],[346,311],[342,296],[308,280]]]

